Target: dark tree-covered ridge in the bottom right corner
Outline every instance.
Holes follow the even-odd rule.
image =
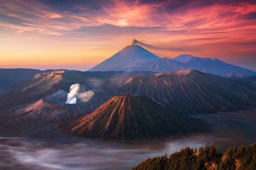
[[[249,146],[228,148],[224,154],[212,146],[186,147],[180,152],[148,158],[132,170],[255,170],[256,143]]]

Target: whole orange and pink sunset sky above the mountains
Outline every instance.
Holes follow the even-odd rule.
[[[0,2],[0,68],[87,70],[133,43],[256,71],[256,1]]]

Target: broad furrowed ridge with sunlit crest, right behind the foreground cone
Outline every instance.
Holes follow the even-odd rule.
[[[174,112],[232,111],[256,105],[256,85],[197,70],[134,77],[105,93],[147,96]]]

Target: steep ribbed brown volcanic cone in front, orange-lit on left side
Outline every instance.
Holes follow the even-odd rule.
[[[119,95],[96,111],[59,125],[72,136],[133,140],[145,137],[184,134],[199,125],[145,96]]]

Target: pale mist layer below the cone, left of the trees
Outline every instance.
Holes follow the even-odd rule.
[[[0,169],[131,169],[142,160],[162,155],[166,151],[172,153],[186,146],[206,145],[201,137],[170,143],[126,146],[87,140],[54,145],[25,138],[1,137],[0,141]]]

